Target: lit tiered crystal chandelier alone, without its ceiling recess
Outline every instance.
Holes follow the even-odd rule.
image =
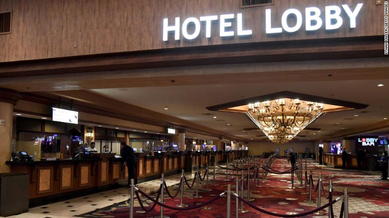
[[[287,143],[323,113],[323,104],[282,98],[248,104],[247,114],[277,144]]]

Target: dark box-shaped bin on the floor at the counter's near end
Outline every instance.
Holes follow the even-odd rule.
[[[28,212],[28,174],[0,173],[0,216]]]

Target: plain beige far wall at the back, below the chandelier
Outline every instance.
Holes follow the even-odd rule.
[[[305,152],[305,148],[309,148],[311,151],[314,151],[315,143],[292,141],[279,145],[270,141],[250,141],[248,143],[248,155],[258,155],[263,152],[272,152],[275,151],[277,147],[280,149],[280,155],[283,155],[283,151],[289,148],[293,148],[295,152],[303,153]]]

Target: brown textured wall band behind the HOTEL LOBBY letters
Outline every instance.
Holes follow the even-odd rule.
[[[343,26],[326,31],[324,24],[317,31],[307,32],[304,25],[293,34],[265,33],[265,9],[272,9],[272,26],[281,26],[282,13],[291,8],[317,6],[322,17],[327,5],[364,3],[357,27],[350,28],[342,9]],[[173,47],[206,46],[233,43],[285,41],[383,35],[383,5],[373,0],[278,0],[274,5],[240,8],[238,0],[0,0],[0,12],[12,11],[12,33],[0,35],[0,62],[43,58],[69,57],[125,51]],[[173,25],[175,17],[181,24],[188,17],[241,12],[244,29],[249,37],[238,37],[236,19],[232,20],[234,37],[219,37],[218,23],[212,25],[211,38],[205,38],[204,25],[194,41],[162,40],[163,18]],[[323,17],[324,18],[324,17]],[[220,19],[219,19],[220,21]],[[304,20],[305,21],[305,20]],[[324,22],[324,21],[323,21]]]

